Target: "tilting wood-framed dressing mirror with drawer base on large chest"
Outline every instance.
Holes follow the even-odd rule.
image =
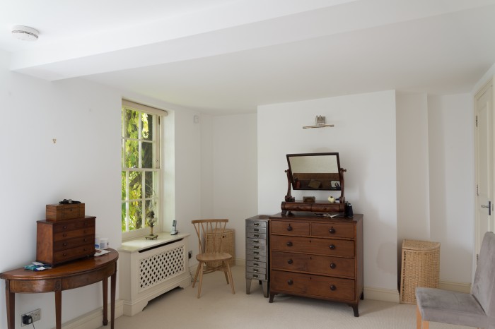
[[[282,215],[291,211],[311,211],[315,213],[344,212],[344,172],[340,167],[339,153],[300,153],[288,154],[287,195],[281,204]],[[293,190],[340,191],[339,201],[303,202],[291,195]]]

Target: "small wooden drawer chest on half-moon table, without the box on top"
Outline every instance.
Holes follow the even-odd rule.
[[[86,216],[62,222],[37,221],[36,261],[57,265],[95,253],[95,220]]]

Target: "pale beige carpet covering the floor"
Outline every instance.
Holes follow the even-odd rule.
[[[347,304],[318,299],[277,295],[270,304],[255,280],[251,294],[245,291],[245,268],[233,266],[235,294],[223,273],[204,275],[202,297],[197,286],[174,289],[153,299],[144,311],[115,320],[115,329],[230,329],[230,328],[416,328],[414,305],[365,299],[359,303],[359,318]],[[107,327],[100,327],[106,329]],[[430,323],[430,329],[467,328]]]

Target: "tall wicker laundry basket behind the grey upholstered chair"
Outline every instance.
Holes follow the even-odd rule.
[[[416,304],[416,287],[438,288],[439,276],[439,242],[402,241],[401,303]]]

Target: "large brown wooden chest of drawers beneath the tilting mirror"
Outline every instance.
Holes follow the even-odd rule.
[[[341,301],[359,316],[363,299],[363,215],[269,217],[270,297],[294,294]]]

